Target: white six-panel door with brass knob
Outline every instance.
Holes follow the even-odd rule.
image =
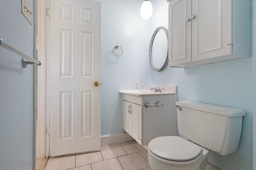
[[[50,0],[50,156],[100,149],[100,3]]]

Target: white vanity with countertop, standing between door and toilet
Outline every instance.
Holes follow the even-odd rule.
[[[152,87],[150,90],[119,91],[122,94],[122,128],[140,145],[148,145],[156,137],[176,135],[177,131],[176,86],[159,86],[163,87],[162,92],[153,92]]]

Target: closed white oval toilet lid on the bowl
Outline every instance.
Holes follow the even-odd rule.
[[[152,139],[148,144],[148,149],[161,158],[178,161],[194,159],[202,151],[202,147],[178,136]]]

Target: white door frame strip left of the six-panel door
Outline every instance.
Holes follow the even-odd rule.
[[[50,0],[36,0],[37,8],[37,57],[42,66],[37,70],[37,158],[49,157],[49,17],[46,9],[50,7]]]

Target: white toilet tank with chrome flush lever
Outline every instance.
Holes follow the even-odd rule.
[[[243,109],[198,102],[176,102],[179,133],[221,155],[236,151],[242,130]]]

